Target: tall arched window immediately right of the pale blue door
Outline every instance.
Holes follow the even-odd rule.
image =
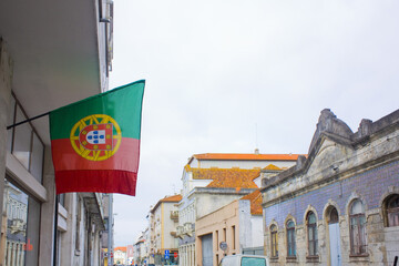
[[[366,216],[365,206],[360,200],[355,200],[350,205],[350,254],[366,254]]]

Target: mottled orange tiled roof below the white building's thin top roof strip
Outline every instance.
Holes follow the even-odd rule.
[[[194,180],[213,180],[206,187],[258,188],[254,180],[260,170],[242,168],[191,168]]]

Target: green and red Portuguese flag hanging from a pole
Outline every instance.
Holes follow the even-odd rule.
[[[135,195],[145,81],[50,112],[57,194]]]

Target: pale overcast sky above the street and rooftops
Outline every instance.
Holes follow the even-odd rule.
[[[115,245],[198,153],[307,153],[323,109],[355,132],[399,108],[397,0],[114,0],[111,85],[145,79],[135,197]]]

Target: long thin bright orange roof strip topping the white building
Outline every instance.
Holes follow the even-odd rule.
[[[243,160],[243,161],[296,161],[301,154],[255,154],[255,153],[203,153],[194,154],[196,160]]]

